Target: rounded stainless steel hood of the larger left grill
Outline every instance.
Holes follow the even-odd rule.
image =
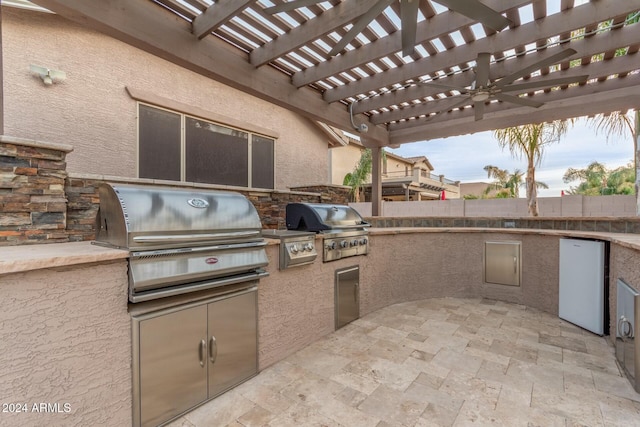
[[[262,241],[260,217],[239,193],[104,184],[99,194],[100,244],[150,250]]]

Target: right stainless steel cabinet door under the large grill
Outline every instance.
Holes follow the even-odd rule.
[[[209,398],[258,372],[257,292],[208,305]]]

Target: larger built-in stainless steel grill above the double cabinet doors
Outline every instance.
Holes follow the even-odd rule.
[[[99,194],[95,243],[131,252],[131,302],[267,275],[260,218],[239,193],[105,184]]]

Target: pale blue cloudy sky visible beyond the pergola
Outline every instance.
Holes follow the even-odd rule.
[[[508,149],[500,149],[492,132],[414,142],[388,150],[404,157],[426,156],[434,167],[433,173],[461,182],[491,182],[483,169],[486,165],[509,172],[527,169],[526,160],[514,159]],[[546,183],[549,189],[540,190],[538,196],[557,197],[562,190],[576,186],[578,182],[562,181],[566,170],[583,169],[594,160],[610,169],[628,164],[633,160],[633,140],[596,134],[581,118],[558,143],[547,146],[542,164],[536,168],[536,180]],[[520,194],[524,197],[524,187]]]

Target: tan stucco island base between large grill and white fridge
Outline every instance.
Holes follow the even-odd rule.
[[[335,271],[360,267],[360,315],[425,298],[485,297],[558,313],[558,236],[510,233],[403,233],[371,236],[367,256],[278,270],[278,246],[267,249],[269,277],[259,285],[260,369],[334,330]],[[522,242],[522,284],[484,283],[485,241]],[[320,240],[316,240],[320,249]]]

